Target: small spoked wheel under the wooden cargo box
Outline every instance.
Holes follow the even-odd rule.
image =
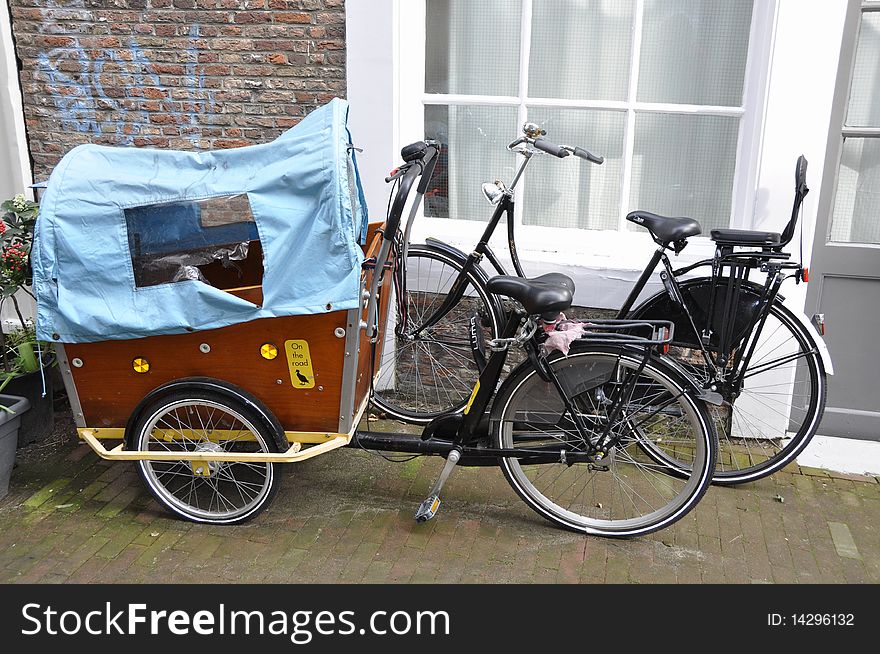
[[[277,452],[277,434],[255,398],[231,385],[177,384],[147,400],[127,429],[127,447],[157,452]],[[278,491],[272,463],[138,461],[163,506],[193,522],[237,524]]]

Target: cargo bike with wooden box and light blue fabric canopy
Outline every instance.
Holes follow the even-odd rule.
[[[369,223],[347,114],[333,100],[234,150],[64,157],[41,203],[34,288],[79,437],[201,523],[253,518],[277,464],[346,446],[446,459],[419,521],[456,465],[500,466],[532,509],[581,532],[635,536],[684,516],[716,439],[700,389],[659,356],[672,324],[567,321],[563,275],[490,280],[511,309],[463,412],[421,435],[359,429],[400,338],[389,306],[418,306],[393,280],[438,146],[403,149],[385,220]],[[572,330],[563,354],[554,343]],[[513,348],[525,356],[508,373]]]

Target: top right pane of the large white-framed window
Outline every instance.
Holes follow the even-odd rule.
[[[742,105],[751,0],[647,0],[642,102]]]

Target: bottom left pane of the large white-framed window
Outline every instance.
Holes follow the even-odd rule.
[[[425,215],[488,221],[492,207],[480,186],[513,179],[516,158],[507,144],[519,135],[516,107],[425,107],[425,137],[443,144]]]

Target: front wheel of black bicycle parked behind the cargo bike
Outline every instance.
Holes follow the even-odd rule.
[[[399,420],[425,424],[442,413],[461,411],[480,374],[474,346],[488,352],[488,342],[498,336],[500,319],[491,296],[470,271],[464,274],[460,299],[425,327],[462,269],[462,261],[439,248],[409,247],[406,297],[396,300],[395,321],[386,327],[373,393],[373,402]]]

